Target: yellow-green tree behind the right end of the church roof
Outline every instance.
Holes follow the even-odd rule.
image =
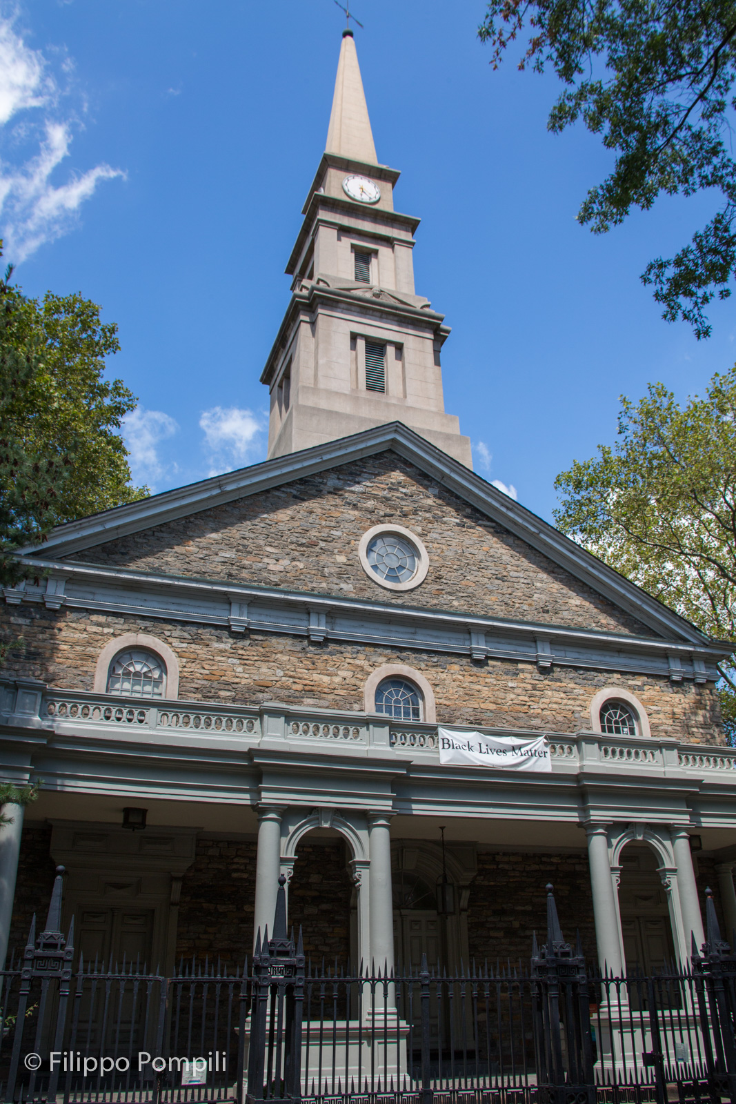
[[[736,367],[680,406],[663,384],[621,396],[619,439],[555,480],[555,520],[703,631],[736,644]],[[736,657],[722,705],[736,736]]]

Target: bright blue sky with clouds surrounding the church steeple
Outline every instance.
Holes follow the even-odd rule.
[[[355,0],[395,200],[422,217],[417,293],[446,314],[445,402],[477,470],[551,519],[554,479],[616,435],[618,396],[703,393],[736,358],[730,302],[697,342],[639,274],[714,210],[660,200],[596,237],[575,214],[610,157],[546,131],[558,86],[498,72],[482,0]],[[0,233],[24,290],[82,291],[119,326],[139,396],[134,476],[156,490],[266,455],[258,376],[324,146],[333,0],[0,0]]]

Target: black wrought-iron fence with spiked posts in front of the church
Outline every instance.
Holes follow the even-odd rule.
[[[0,974],[2,1101],[736,1104],[736,957],[708,899],[692,967],[601,977],[559,931],[529,968],[316,972],[274,932],[239,973],[77,962],[45,930]]]

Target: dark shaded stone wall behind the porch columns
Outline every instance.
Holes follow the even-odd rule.
[[[54,878],[51,827],[29,821],[23,829],[10,946],[22,948],[31,917],[45,920]],[[194,959],[220,958],[227,969],[242,967],[250,953],[256,870],[255,840],[203,835],[194,863],[183,877],[177,933],[177,967]],[[715,860],[697,857],[698,899],[714,890],[722,934],[725,932]],[[478,873],[470,885],[468,944],[478,964],[499,955],[526,965],[532,934],[546,931],[545,884],[554,885],[564,935],[580,932],[583,949],[596,962],[595,926],[588,858],[585,851],[527,853],[479,850]],[[305,952],[319,965],[350,957],[350,905],[353,885],[340,841],[302,841],[289,884],[289,924],[302,927]],[[704,907],[703,907],[704,912]],[[705,917],[704,917],[705,920]],[[726,937],[724,935],[724,937]]]

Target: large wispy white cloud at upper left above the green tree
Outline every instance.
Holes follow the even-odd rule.
[[[52,183],[58,166],[70,156],[77,120],[70,109],[60,112],[62,91],[46,59],[25,45],[13,24],[14,18],[0,15],[0,127],[18,115],[21,118],[10,135],[1,136],[6,147],[17,149],[32,142],[36,149],[20,163],[0,157],[0,233],[6,258],[19,264],[75,225],[79,208],[100,180],[125,173],[102,163],[86,172],[72,171],[64,183]],[[73,63],[63,59],[60,67],[68,75]]]

